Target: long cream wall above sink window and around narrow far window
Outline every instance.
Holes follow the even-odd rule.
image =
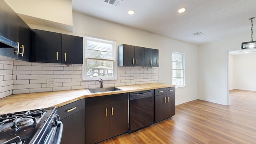
[[[88,34],[117,40],[117,45],[131,44],[159,49],[159,82],[171,84],[171,51],[185,53],[186,87],[177,88],[176,104],[197,99],[197,46],[158,36],[142,30],[128,28],[73,12],[73,34]],[[178,98],[177,98],[178,96]]]

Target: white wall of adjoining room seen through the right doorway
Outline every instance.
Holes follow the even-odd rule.
[[[256,54],[234,56],[234,88],[256,91]]]

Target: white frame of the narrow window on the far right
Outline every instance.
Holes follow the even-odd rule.
[[[185,53],[182,53],[182,52],[171,52],[171,54],[172,54],[172,57],[173,57],[173,54],[179,54],[179,55],[181,55],[182,56],[182,69],[174,69],[173,68],[173,65],[174,65],[174,62],[176,62],[176,61],[173,61],[173,59],[171,58],[171,83],[173,84],[173,79],[174,78],[183,78],[183,84],[179,84],[179,85],[177,85],[177,84],[175,84],[176,85],[176,87],[183,87],[183,86],[186,86],[186,84],[185,84]],[[183,70],[183,77],[173,77],[173,70]]]

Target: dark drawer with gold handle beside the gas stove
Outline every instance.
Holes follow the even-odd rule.
[[[82,110],[85,108],[84,98],[70,104],[66,104],[65,106],[61,106],[57,108],[58,115],[60,116],[60,120],[71,116],[72,114]]]

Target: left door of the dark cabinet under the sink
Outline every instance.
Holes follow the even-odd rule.
[[[109,104],[86,108],[86,144],[109,138]]]

